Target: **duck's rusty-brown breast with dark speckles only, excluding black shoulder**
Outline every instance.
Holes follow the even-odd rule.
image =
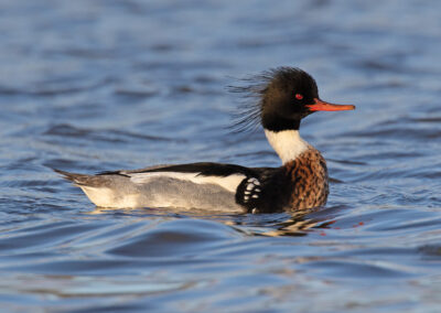
[[[295,211],[326,204],[330,193],[326,161],[314,148],[283,165],[291,180],[291,196],[284,209]]]

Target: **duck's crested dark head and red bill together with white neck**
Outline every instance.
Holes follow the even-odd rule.
[[[302,118],[315,111],[355,109],[352,105],[321,100],[314,78],[300,68],[278,67],[245,82],[251,84],[230,89],[245,93],[246,99],[239,107],[234,128],[241,131],[261,123],[283,164],[310,148],[298,131]]]

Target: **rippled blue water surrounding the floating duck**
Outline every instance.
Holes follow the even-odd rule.
[[[440,312],[441,2],[0,1],[1,312]],[[51,168],[277,166],[232,77],[300,66],[325,208],[101,211]]]

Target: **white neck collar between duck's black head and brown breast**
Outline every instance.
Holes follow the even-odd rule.
[[[298,130],[272,131],[266,129],[265,134],[283,164],[295,160],[297,156],[309,148],[308,142],[300,137]]]

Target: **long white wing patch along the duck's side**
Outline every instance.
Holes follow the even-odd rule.
[[[180,173],[180,172],[148,172],[148,173],[129,173],[130,181],[135,184],[152,183],[159,177],[170,177],[180,181],[192,182],[194,184],[215,184],[220,187],[236,193],[237,186],[246,179],[243,174],[233,174],[228,176],[202,176],[200,173]]]

